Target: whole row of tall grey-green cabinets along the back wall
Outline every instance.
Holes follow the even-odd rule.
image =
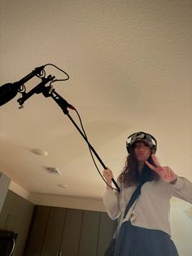
[[[106,213],[36,206],[26,256],[103,256],[116,229]]]

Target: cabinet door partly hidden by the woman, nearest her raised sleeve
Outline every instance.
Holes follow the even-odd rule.
[[[111,220],[107,213],[101,213],[98,233],[98,256],[103,256],[114,233],[116,232],[117,221]]]

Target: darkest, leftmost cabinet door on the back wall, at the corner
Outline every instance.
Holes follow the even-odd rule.
[[[40,256],[46,234],[46,225],[50,214],[50,207],[36,206],[31,229],[28,234],[28,241],[25,249],[25,256]]]

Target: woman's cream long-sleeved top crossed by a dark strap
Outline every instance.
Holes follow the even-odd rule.
[[[192,183],[189,179],[178,177],[175,184],[166,183],[163,180],[148,181],[142,185],[141,195],[132,205],[126,217],[122,219],[126,205],[136,186],[124,188],[121,183],[118,184],[120,193],[107,189],[103,196],[103,202],[110,218],[120,217],[120,224],[130,220],[134,226],[161,230],[171,236],[170,198],[176,196],[192,203]]]

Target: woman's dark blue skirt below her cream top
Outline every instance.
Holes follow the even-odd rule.
[[[163,231],[122,223],[114,256],[178,256],[170,236]]]

